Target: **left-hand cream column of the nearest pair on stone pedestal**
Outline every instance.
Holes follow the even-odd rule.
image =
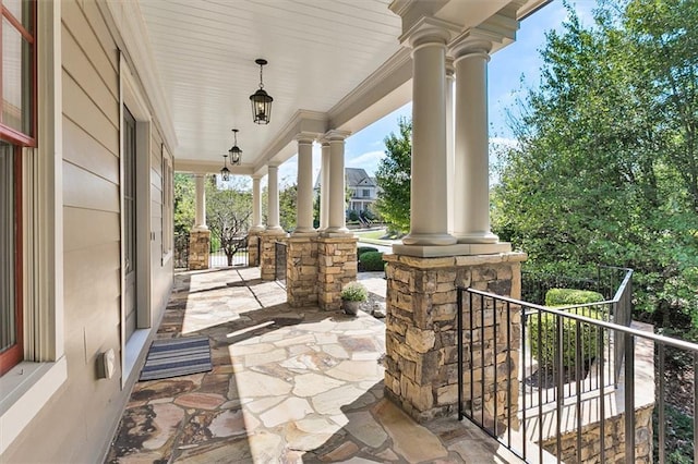
[[[428,28],[412,46],[412,183],[405,245],[453,245],[448,234],[446,156],[446,38]]]

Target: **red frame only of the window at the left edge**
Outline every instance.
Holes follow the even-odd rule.
[[[5,374],[24,358],[24,310],[23,310],[23,256],[22,256],[22,149],[26,147],[36,147],[37,131],[37,49],[36,49],[36,0],[29,0],[29,27],[27,29],[4,5],[0,0],[1,15],[0,19],[0,57],[2,56],[2,28],[5,27],[4,21],[8,20],[10,25],[16,29],[29,45],[31,53],[31,107],[29,111],[29,134],[25,134],[13,127],[10,127],[2,121],[2,111],[0,111],[0,139],[13,145],[13,175],[14,175],[14,284],[15,284],[15,344],[0,353],[0,376]],[[0,106],[2,105],[2,66],[0,66]],[[24,109],[23,109],[24,110]]]

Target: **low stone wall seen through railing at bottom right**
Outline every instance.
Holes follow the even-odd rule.
[[[652,462],[652,412],[654,405],[648,405],[635,411],[635,463]],[[604,462],[625,463],[625,414],[609,417],[604,426]],[[563,434],[561,437],[561,459],[565,463],[577,463],[577,432]],[[555,454],[557,439],[555,437],[543,441],[543,449]],[[581,462],[601,462],[601,427],[599,423],[582,427]]]

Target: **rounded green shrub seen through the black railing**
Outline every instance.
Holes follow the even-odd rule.
[[[603,296],[597,292],[573,289],[551,289],[545,294],[545,304],[551,307],[581,305],[588,303],[602,302]],[[590,319],[604,319],[604,310],[600,308],[573,308],[567,310],[570,314],[577,314]],[[539,319],[540,331],[539,338]],[[582,366],[598,356],[599,352],[599,330],[597,327],[581,322],[579,325],[579,340],[581,341],[581,359]],[[530,316],[527,323],[529,333],[529,342],[531,354],[537,358],[542,367],[552,367],[555,365],[555,349],[557,346],[557,317],[552,314],[542,314]],[[539,359],[539,340],[540,340],[540,359]],[[577,355],[577,322],[573,319],[565,318],[563,320],[563,366],[570,368],[575,366],[575,357]],[[586,369],[586,368],[585,368]]]

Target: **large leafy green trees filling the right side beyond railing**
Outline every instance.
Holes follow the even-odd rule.
[[[698,327],[697,10],[609,0],[585,27],[570,9],[502,157],[493,225],[532,267],[635,268],[640,308]]]

